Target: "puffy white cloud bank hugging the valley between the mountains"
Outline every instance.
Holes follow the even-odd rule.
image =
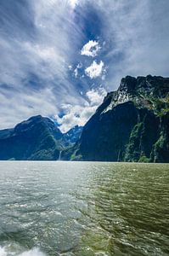
[[[65,104],[62,106],[65,115],[55,119],[60,125],[60,130],[66,132],[75,125],[85,125],[87,120],[93,115],[99,105],[103,102],[104,96],[107,94],[104,88],[100,87],[98,90],[88,90],[86,93],[87,100],[84,104]]]

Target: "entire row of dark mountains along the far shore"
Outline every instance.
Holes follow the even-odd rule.
[[[0,160],[169,162],[169,79],[127,76],[84,127],[31,117],[0,131]]]

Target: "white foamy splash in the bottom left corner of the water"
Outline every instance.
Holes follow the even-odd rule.
[[[0,247],[0,256],[45,256],[39,248],[32,248],[24,253],[16,253],[8,250],[8,247]]]

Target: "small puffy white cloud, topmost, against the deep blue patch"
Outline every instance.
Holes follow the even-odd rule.
[[[101,47],[99,46],[99,42],[90,40],[87,44],[85,44],[81,50],[81,55],[87,55],[91,57],[95,57],[98,55]]]

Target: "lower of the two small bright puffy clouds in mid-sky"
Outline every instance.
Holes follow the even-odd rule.
[[[85,69],[86,75],[91,79],[96,79],[104,72],[104,62],[100,61],[99,64],[93,61],[92,65]]]

